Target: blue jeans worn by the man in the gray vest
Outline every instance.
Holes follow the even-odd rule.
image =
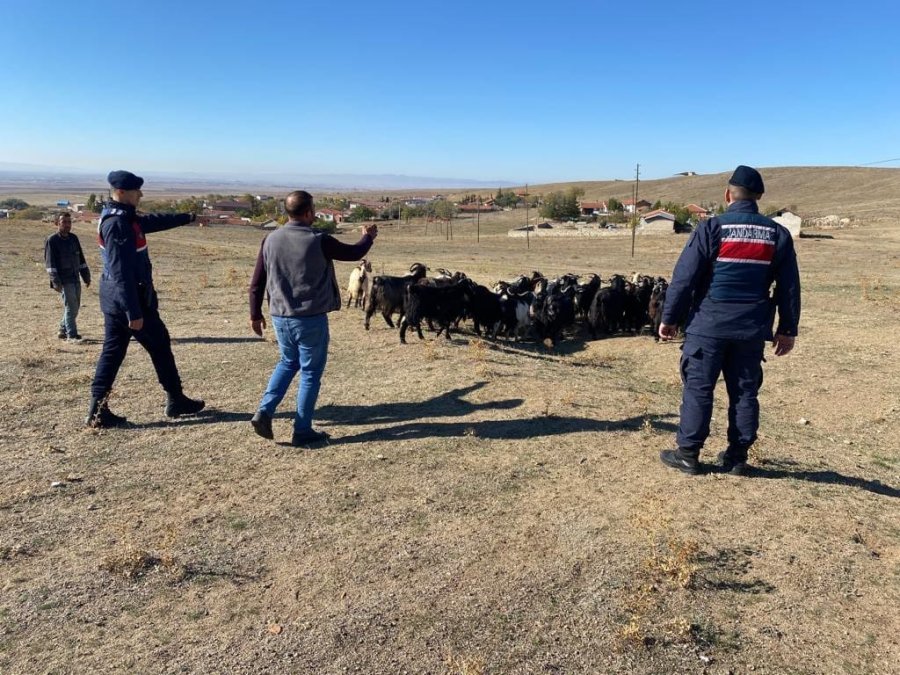
[[[269,378],[259,409],[274,417],[275,408],[287,393],[294,375],[300,371],[294,433],[310,431],[322,373],[328,360],[328,316],[273,316],[272,326],[278,338],[281,359]]]

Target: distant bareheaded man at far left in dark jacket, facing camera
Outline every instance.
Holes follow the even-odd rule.
[[[58,337],[78,341],[78,310],[81,308],[81,280],[91,285],[91,270],[84,260],[81,242],[72,234],[72,215],[60,213],[56,217],[56,234],[44,242],[44,262],[50,275],[50,286],[63,301],[63,317],[59,322]]]

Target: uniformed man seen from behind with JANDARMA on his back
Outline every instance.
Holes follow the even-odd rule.
[[[728,210],[701,222],[691,235],[666,293],[659,336],[674,338],[685,316],[687,328],[678,448],[664,450],[660,459],[685,473],[699,472],[720,374],[728,391],[728,447],[719,459],[728,473],[746,473],[747,451],[759,428],[765,342],[772,340],[776,356],[794,348],[800,321],[797,256],[787,229],[760,215],[757,201],[764,190],[758,171],[735,170],[725,191]]]

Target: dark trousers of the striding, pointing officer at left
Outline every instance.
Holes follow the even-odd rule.
[[[153,303],[154,305],[156,303]],[[166,324],[159,317],[155,306],[144,309],[144,327],[132,331],[128,327],[128,317],[124,313],[103,314],[104,329],[103,351],[97,361],[94,382],[91,384],[91,396],[103,398],[112,389],[119,367],[128,352],[131,336],[150,354],[156,377],[159,383],[170,394],[181,393],[181,378],[172,355],[172,344]]]

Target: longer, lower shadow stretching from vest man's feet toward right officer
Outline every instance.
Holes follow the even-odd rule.
[[[351,436],[332,438],[331,444],[369,443],[425,438],[473,436],[491,440],[525,440],[542,436],[560,436],[585,431],[639,431],[646,423],[657,429],[674,431],[675,425],[662,419],[674,415],[638,415],[623,420],[595,420],[586,417],[540,416],[513,420],[481,422],[408,422],[392,427],[372,429]]]

